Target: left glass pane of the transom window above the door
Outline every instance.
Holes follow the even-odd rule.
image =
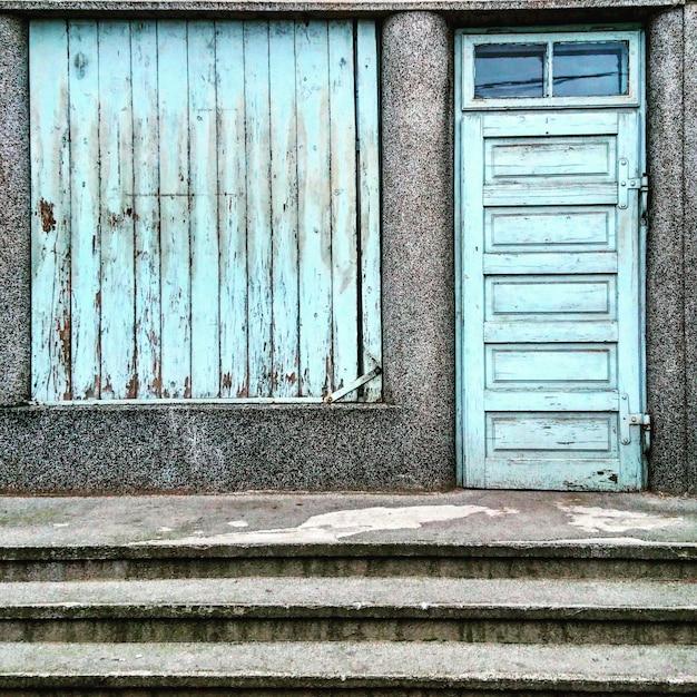
[[[474,98],[543,97],[547,47],[498,43],[474,48]]]

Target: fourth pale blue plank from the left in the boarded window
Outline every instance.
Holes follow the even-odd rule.
[[[136,228],[136,372],[138,396],[161,394],[159,293],[159,132],[157,24],[131,23],[134,220]]]

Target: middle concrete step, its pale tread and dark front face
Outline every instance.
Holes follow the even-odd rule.
[[[2,641],[697,645],[697,583],[239,578],[0,583]]]

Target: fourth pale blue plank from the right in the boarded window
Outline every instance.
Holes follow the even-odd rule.
[[[269,24],[274,396],[298,394],[295,24]]]

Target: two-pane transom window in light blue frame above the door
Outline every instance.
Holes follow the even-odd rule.
[[[638,104],[639,32],[469,36],[463,108]]]

